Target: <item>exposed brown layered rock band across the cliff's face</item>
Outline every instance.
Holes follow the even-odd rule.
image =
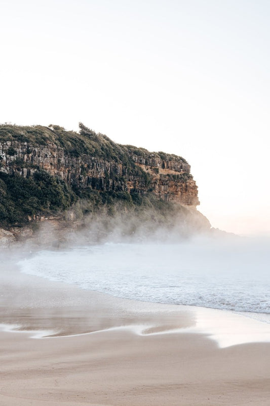
[[[0,171],[9,175],[18,173],[27,178],[41,168],[80,189],[152,191],[160,199],[184,206],[196,207],[200,204],[188,163],[173,155],[162,159],[145,150],[143,156],[139,156],[132,149],[125,149],[130,161],[102,159],[89,154],[72,156],[51,142],[47,145],[15,140],[0,142]]]

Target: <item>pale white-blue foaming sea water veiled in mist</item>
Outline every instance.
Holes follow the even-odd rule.
[[[43,250],[26,274],[114,296],[270,313],[269,240],[193,238]]]

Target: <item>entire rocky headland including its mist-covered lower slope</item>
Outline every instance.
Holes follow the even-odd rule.
[[[116,144],[79,127],[0,125],[2,243],[33,238],[43,220],[66,233],[121,212],[149,221],[150,229],[170,229],[174,217],[181,232],[210,228],[196,210],[198,188],[184,158]],[[135,220],[131,227],[125,232],[134,233]]]

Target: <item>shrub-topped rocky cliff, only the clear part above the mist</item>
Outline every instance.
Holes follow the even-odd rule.
[[[116,144],[82,123],[79,133],[57,125],[0,125],[0,222],[6,228],[59,215],[78,199],[140,206],[146,197],[196,210],[198,189],[186,160]]]

